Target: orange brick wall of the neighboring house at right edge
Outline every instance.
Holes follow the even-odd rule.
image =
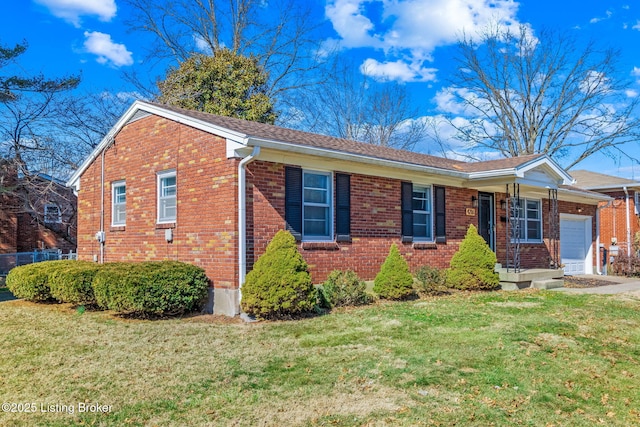
[[[600,210],[600,243],[609,247],[612,239],[618,240],[618,246],[626,251],[627,249],[627,204],[624,191],[606,193],[615,200],[604,202],[601,205],[607,206]],[[640,231],[640,218],[635,214],[634,192],[629,191],[629,228],[631,230],[631,246],[633,250],[633,238]]]

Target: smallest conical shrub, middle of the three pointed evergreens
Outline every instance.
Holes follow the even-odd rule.
[[[413,277],[409,265],[396,244],[391,245],[380,272],[373,282],[373,291],[385,299],[402,299],[413,293]]]

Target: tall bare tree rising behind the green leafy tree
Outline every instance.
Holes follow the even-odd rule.
[[[148,59],[182,63],[195,53],[225,48],[253,56],[269,72],[268,93],[314,83],[320,63],[318,27],[309,3],[276,0],[126,0],[134,11],[129,26],[153,36]],[[131,76],[130,76],[131,77]],[[135,79],[135,78],[134,78]],[[140,86],[140,85],[138,85]]]

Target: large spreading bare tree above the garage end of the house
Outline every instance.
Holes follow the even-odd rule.
[[[627,96],[618,58],[526,26],[465,36],[450,93],[468,120],[452,126],[470,147],[507,157],[547,153],[567,169],[596,152],[630,157],[619,147],[640,136],[638,98]]]

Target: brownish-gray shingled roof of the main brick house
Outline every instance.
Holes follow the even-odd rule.
[[[256,139],[265,139],[270,141],[285,142],[288,144],[322,148],[325,150],[333,150],[337,152],[357,154],[377,159],[392,160],[402,163],[458,172],[482,172],[490,170],[512,169],[526,164],[533,159],[544,156],[542,154],[531,154],[527,156],[489,160],[484,162],[463,162],[431,156],[428,154],[415,153],[412,151],[398,150],[395,148],[382,147],[379,145],[335,138],[332,136],[303,132],[280,126],[250,122],[233,117],[218,116],[215,114],[203,113],[200,111],[186,110],[170,105],[158,104],[153,102],[147,103],[158,108],[163,108],[177,114],[181,114],[212,124],[214,126],[219,126],[231,131],[239,132],[248,137]]]

